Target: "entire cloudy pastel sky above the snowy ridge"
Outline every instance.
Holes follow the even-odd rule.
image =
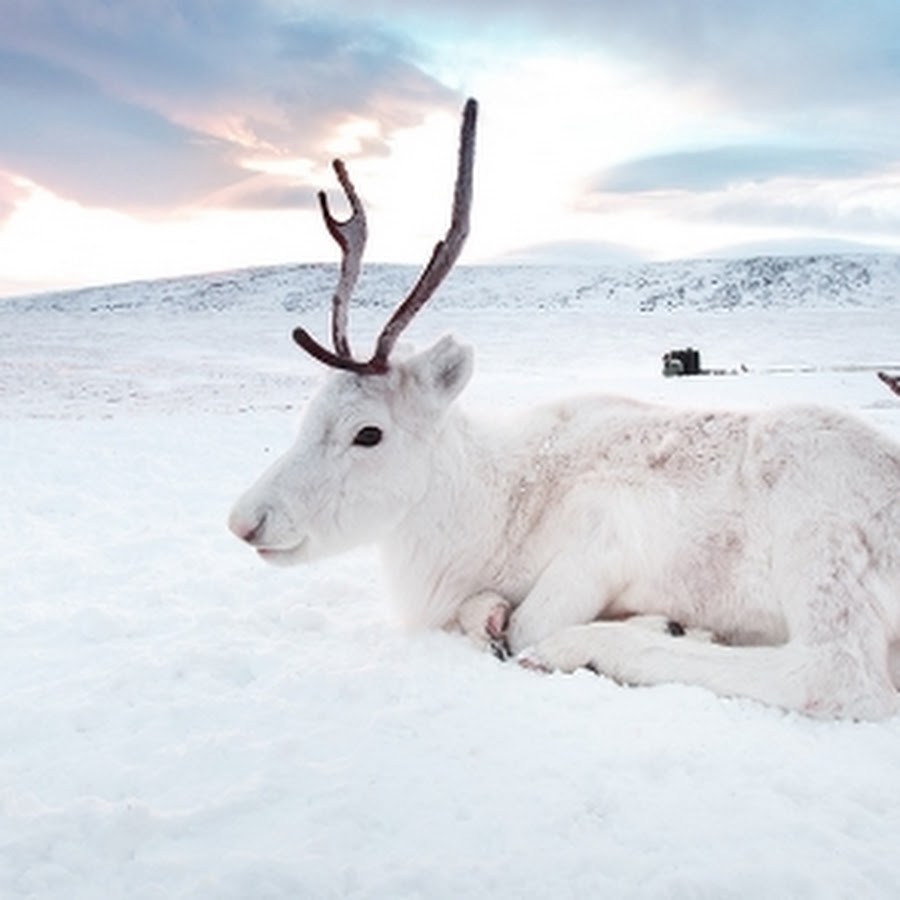
[[[0,296],[461,262],[900,252],[896,0],[0,0]]]

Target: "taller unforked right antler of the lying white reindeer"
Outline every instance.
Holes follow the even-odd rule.
[[[369,366],[374,371],[384,371],[387,360],[400,333],[412,321],[413,316],[425,305],[459,257],[469,234],[469,213],[472,208],[472,172],[475,163],[475,125],[478,118],[478,102],[466,101],[459,135],[459,162],[456,186],[453,192],[453,212],[450,228],[442,241],[438,241],[428,265],[419,276],[406,299],[395,310],[382,329],[375,347],[375,355]]]

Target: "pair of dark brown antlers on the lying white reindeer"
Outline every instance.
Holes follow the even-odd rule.
[[[347,221],[338,222],[328,209],[328,200],[324,191],[319,193],[319,204],[322,208],[325,225],[342,252],[340,279],[332,299],[331,330],[334,352],[323,347],[305,329],[294,329],[294,340],[320,362],[333,368],[347,369],[361,375],[373,375],[387,371],[388,357],[397,343],[397,338],[453,268],[469,234],[477,117],[478,104],[475,100],[470,99],[463,109],[456,187],[453,193],[453,212],[447,234],[442,241],[438,241],[435,245],[431,259],[413,289],[388,319],[378,336],[375,352],[367,361],[353,358],[347,340],[347,307],[350,294],[359,276],[360,260],[366,242],[366,219],[362,203],[350,181],[346,167],[340,160],[335,160],[334,170],[350,203],[352,215]]]

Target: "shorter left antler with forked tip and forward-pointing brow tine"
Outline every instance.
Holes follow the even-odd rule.
[[[366,246],[366,212],[344,163],[336,159],[332,167],[350,204],[350,218],[341,222],[331,212],[328,195],[325,191],[319,191],[319,208],[322,210],[325,227],[341,248],[341,273],[331,298],[331,340],[334,353],[323,347],[303,328],[294,329],[294,340],[307,353],[326,365],[353,369],[358,364],[352,358],[347,339],[347,310],[359,278],[360,263]]]

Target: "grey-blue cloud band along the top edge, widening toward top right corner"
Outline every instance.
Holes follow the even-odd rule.
[[[732,100],[796,109],[889,99],[900,81],[895,0],[345,0],[342,8],[443,20],[476,33],[503,23],[626,59]],[[896,108],[896,107],[895,107]]]

